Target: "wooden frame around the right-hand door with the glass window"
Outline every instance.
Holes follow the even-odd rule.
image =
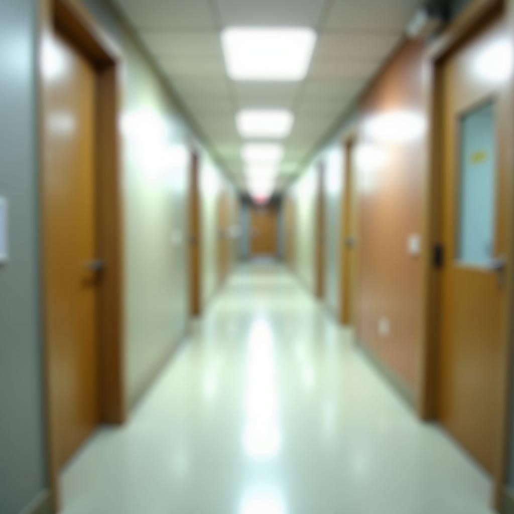
[[[438,315],[438,299],[441,288],[441,274],[434,265],[434,248],[442,240],[442,201],[438,192],[442,188],[442,174],[440,173],[441,159],[443,157],[442,142],[438,136],[436,127],[442,122],[442,85],[440,79],[439,65],[445,57],[452,52],[457,45],[461,44],[468,36],[491,20],[492,16],[501,13],[505,16],[506,23],[510,27],[508,31],[514,41],[514,0],[474,0],[462,14],[457,16],[455,21],[434,41],[430,46],[425,59],[426,79],[426,108],[429,115],[430,127],[427,137],[427,175],[425,183],[425,207],[424,207],[424,249],[422,254],[423,262],[423,325],[420,341],[419,358],[419,383],[417,411],[422,419],[430,420],[437,417],[437,386],[438,386],[438,330],[440,317]],[[510,84],[510,106],[514,106],[514,79]],[[502,125],[507,127],[507,138],[514,135],[514,119],[509,111],[501,112]],[[514,153],[510,150],[506,160],[512,172],[514,172]],[[514,229],[514,190],[510,192],[510,203],[508,212],[509,233]],[[506,308],[509,313],[514,307],[514,238],[509,241],[506,252]],[[499,442],[497,448],[497,466],[494,472],[494,498],[495,508],[500,509],[503,504],[504,484],[507,472],[507,449],[509,445],[509,399],[511,384],[511,359],[512,338],[514,336],[514,320],[507,316],[509,324],[504,334],[506,355],[504,358],[504,370],[502,381],[504,381],[503,395],[501,398],[504,405],[501,415]]]

